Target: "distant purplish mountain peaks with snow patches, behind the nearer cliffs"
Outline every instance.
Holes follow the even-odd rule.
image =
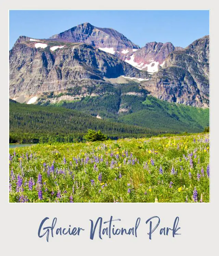
[[[60,34],[52,40],[71,43],[86,43],[123,59],[130,65],[151,73],[158,71],[159,65],[174,50],[172,43],[147,43],[140,47],[114,29],[100,28],[90,23],[82,23]]]

